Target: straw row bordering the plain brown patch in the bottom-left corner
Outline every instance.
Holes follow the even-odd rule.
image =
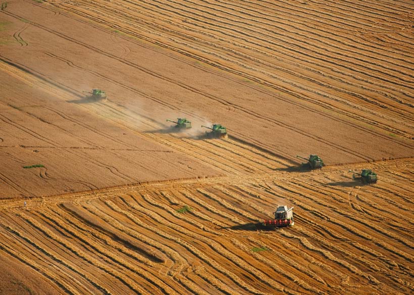
[[[12,248],[10,248],[7,244],[2,243],[2,241],[5,241],[4,239],[0,240],[0,249],[5,251],[6,253],[10,254],[13,257],[16,257],[18,260],[20,260],[22,263],[30,266],[32,269],[38,271],[40,274],[44,275],[46,278],[48,278],[50,281],[53,281],[56,283],[60,288],[62,288],[66,293],[69,293],[71,295],[81,294],[72,286],[67,284],[65,280],[60,280],[55,276],[53,272],[49,272],[46,268],[40,266],[39,264],[35,263],[33,259],[28,259],[27,257],[21,255],[21,251],[16,251]]]

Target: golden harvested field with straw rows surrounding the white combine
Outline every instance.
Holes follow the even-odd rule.
[[[387,163],[391,166],[401,160]],[[412,160],[407,163],[399,171],[412,167]],[[389,169],[381,162],[374,165],[380,171]],[[18,257],[46,277],[47,266],[42,260],[33,264],[33,257],[46,255],[54,265],[64,267],[65,276],[72,282],[66,288],[74,294],[83,292],[83,288],[108,293],[122,289],[147,293],[162,288],[164,293],[191,290],[204,294],[199,286],[209,286],[224,294],[266,294],[272,293],[271,290],[319,294],[333,286],[347,293],[345,287],[354,289],[358,285],[350,282],[350,278],[354,282],[365,281],[371,290],[378,292],[390,290],[390,284],[398,285],[400,290],[412,290],[408,283],[412,245],[402,233],[392,232],[393,224],[378,219],[380,215],[384,218],[392,215],[374,209],[369,223],[359,219],[355,208],[365,207],[366,203],[354,199],[357,207],[349,211],[345,202],[349,193],[360,190],[359,187],[338,191],[322,181],[327,172],[309,173],[314,180],[310,180],[312,186],[300,172],[265,173],[253,178],[246,175],[242,179],[227,176],[166,181],[67,195],[69,198],[55,196],[41,199],[37,205],[33,199],[27,210],[3,204],[0,233],[16,237],[16,249],[28,244],[32,250],[19,251]],[[375,197],[375,191],[382,186],[379,182],[365,190]],[[297,226],[277,231],[242,229],[244,224],[269,216],[269,204],[277,204],[281,199],[295,205]],[[178,212],[184,205],[191,210],[185,214]],[[5,238],[0,249],[17,256],[8,241]],[[132,245],[142,243],[145,250],[131,251]],[[266,255],[251,254],[251,247],[256,246],[267,247]],[[148,256],[151,252],[164,258],[154,260],[154,256]],[[283,268],[274,263],[289,259],[285,255],[292,260],[283,263]],[[195,268],[188,275],[187,269],[194,259],[202,261],[204,266],[202,271]],[[112,269],[106,264],[112,265]],[[313,265],[312,269],[308,264]],[[389,265],[398,268],[391,270]],[[96,269],[97,275],[89,277],[81,270],[84,267]],[[160,277],[161,269],[168,269],[182,285],[177,285],[169,275]],[[281,275],[265,274],[269,269]],[[56,274],[50,279],[64,288],[63,277]],[[109,277],[120,283],[109,284]],[[132,279],[145,286],[145,290]],[[296,287],[286,286],[286,279],[293,279]]]

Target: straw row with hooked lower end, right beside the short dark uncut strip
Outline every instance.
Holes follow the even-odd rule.
[[[132,230],[129,229],[128,227],[122,225],[118,220],[114,219],[113,217],[111,217],[110,215],[108,215],[105,212],[102,212],[100,210],[98,210],[97,208],[95,208],[94,206],[83,206],[83,208],[85,208],[87,211],[89,211],[90,213],[98,216],[99,218],[101,218],[102,220],[104,220],[105,222],[107,222],[108,224],[112,225],[113,227],[117,228],[118,230],[121,230],[122,232],[125,232],[126,234],[128,234],[130,237],[137,239],[138,241],[144,242],[156,249],[159,249],[160,251],[162,251],[163,253],[165,253],[168,257],[170,257],[175,263],[174,265],[169,269],[168,274],[171,276],[175,276],[179,273],[181,273],[182,269],[187,266],[187,261],[181,256],[179,255],[176,251],[174,251],[173,249],[157,242],[154,241],[152,239],[149,239],[147,237],[145,237],[143,234],[139,233],[136,230]],[[146,227],[146,225],[141,222],[138,218],[136,218],[134,220],[134,222],[137,225],[140,225],[142,227]]]

